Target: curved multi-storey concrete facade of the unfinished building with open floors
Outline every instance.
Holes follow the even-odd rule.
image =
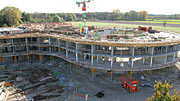
[[[40,32],[1,34],[0,61],[6,64],[30,60],[31,56],[54,56],[87,68],[119,72],[161,69],[179,61],[179,34],[148,33],[118,39],[116,36],[98,39]]]

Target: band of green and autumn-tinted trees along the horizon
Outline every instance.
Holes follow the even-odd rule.
[[[112,12],[88,12],[86,14],[86,19],[90,21],[146,21],[147,19],[180,19],[180,15],[153,15],[148,14],[147,11],[136,12],[134,10],[122,13],[119,9],[115,9]],[[16,7],[9,6],[0,11],[0,26],[17,26],[21,23],[46,23],[81,20],[81,13],[26,13],[21,12]]]

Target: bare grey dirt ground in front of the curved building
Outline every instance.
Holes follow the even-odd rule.
[[[8,65],[13,67],[14,65]],[[63,86],[63,92],[58,97],[43,99],[42,101],[85,101],[85,95],[88,95],[88,101],[146,101],[154,93],[152,85],[154,81],[169,81],[173,85],[173,89],[180,90],[180,63],[176,66],[169,67],[163,70],[156,70],[154,72],[134,73],[133,79],[139,80],[140,85],[148,84],[150,86],[140,87],[139,92],[129,93],[120,85],[120,74],[113,73],[113,79],[110,73],[97,71],[92,78],[91,70],[83,67],[78,67],[68,64],[64,61],[44,61],[44,62],[23,62],[18,65],[19,70],[22,68],[46,68],[52,75],[56,72],[64,77],[63,83],[56,81],[54,83],[47,83],[35,89],[26,92],[27,98],[33,98],[37,94],[43,94],[42,91],[45,86]],[[142,79],[141,77],[144,77]],[[53,76],[52,76],[53,77]],[[46,87],[46,89],[47,89]],[[54,91],[46,92],[46,94],[57,93]],[[41,92],[40,92],[41,91]],[[56,92],[55,92],[56,91]],[[104,96],[98,98],[95,96],[98,92],[103,92]]]

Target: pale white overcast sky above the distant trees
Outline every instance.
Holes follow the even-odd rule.
[[[0,0],[0,9],[15,6],[25,12],[81,12],[76,1],[80,0]],[[87,6],[88,12],[119,9],[121,12],[145,10],[149,14],[180,14],[180,0],[94,0]]]

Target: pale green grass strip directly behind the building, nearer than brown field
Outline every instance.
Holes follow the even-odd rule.
[[[82,22],[72,22],[74,27],[78,27]],[[133,25],[133,24],[118,24],[118,23],[102,23],[102,22],[87,22],[87,26],[97,26],[97,27],[121,27],[121,28],[137,28],[140,25]],[[141,25],[146,26],[146,25]],[[150,27],[150,26],[146,26]],[[180,33],[179,27],[161,27],[161,26],[151,26],[155,30],[162,30],[162,31],[170,31]]]

